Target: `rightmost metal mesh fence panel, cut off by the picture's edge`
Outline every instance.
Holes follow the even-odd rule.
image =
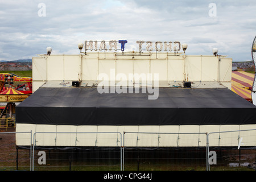
[[[208,134],[208,170],[256,170],[256,129]]]

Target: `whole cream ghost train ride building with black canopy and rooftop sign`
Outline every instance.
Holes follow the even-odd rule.
[[[256,106],[232,92],[232,59],[216,48],[213,55],[187,55],[179,42],[152,48],[154,42],[138,41],[137,52],[125,51],[127,40],[110,41],[110,49],[107,43],[94,50],[85,41],[77,55],[47,48],[33,57],[33,94],[16,107],[16,131],[36,133],[36,146],[204,147],[207,133],[256,129]],[[47,142],[44,132],[51,133]],[[234,135],[256,145],[243,134]],[[237,146],[221,135],[212,146]],[[17,146],[30,144],[16,135]]]

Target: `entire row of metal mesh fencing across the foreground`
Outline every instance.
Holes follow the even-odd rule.
[[[0,170],[8,171],[255,170],[255,162],[256,129],[209,134],[0,133]]]

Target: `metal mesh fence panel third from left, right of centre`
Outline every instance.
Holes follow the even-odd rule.
[[[206,133],[123,133],[123,170],[206,170]]]

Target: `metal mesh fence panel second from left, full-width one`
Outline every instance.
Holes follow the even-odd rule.
[[[122,169],[121,133],[35,133],[32,170]]]

